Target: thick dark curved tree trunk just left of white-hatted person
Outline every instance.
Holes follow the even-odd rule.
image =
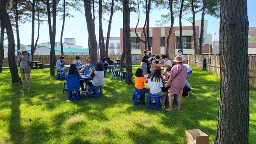
[[[15,40],[12,32],[11,20],[6,10],[6,3],[7,0],[0,0],[0,21],[5,26],[8,37],[8,63],[12,75],[12,84],[22,84],[15,60]]]

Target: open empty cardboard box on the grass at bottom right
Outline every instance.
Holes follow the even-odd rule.
[[[199,129],[185,130],[187,144],[209,144],[209,136]]]

